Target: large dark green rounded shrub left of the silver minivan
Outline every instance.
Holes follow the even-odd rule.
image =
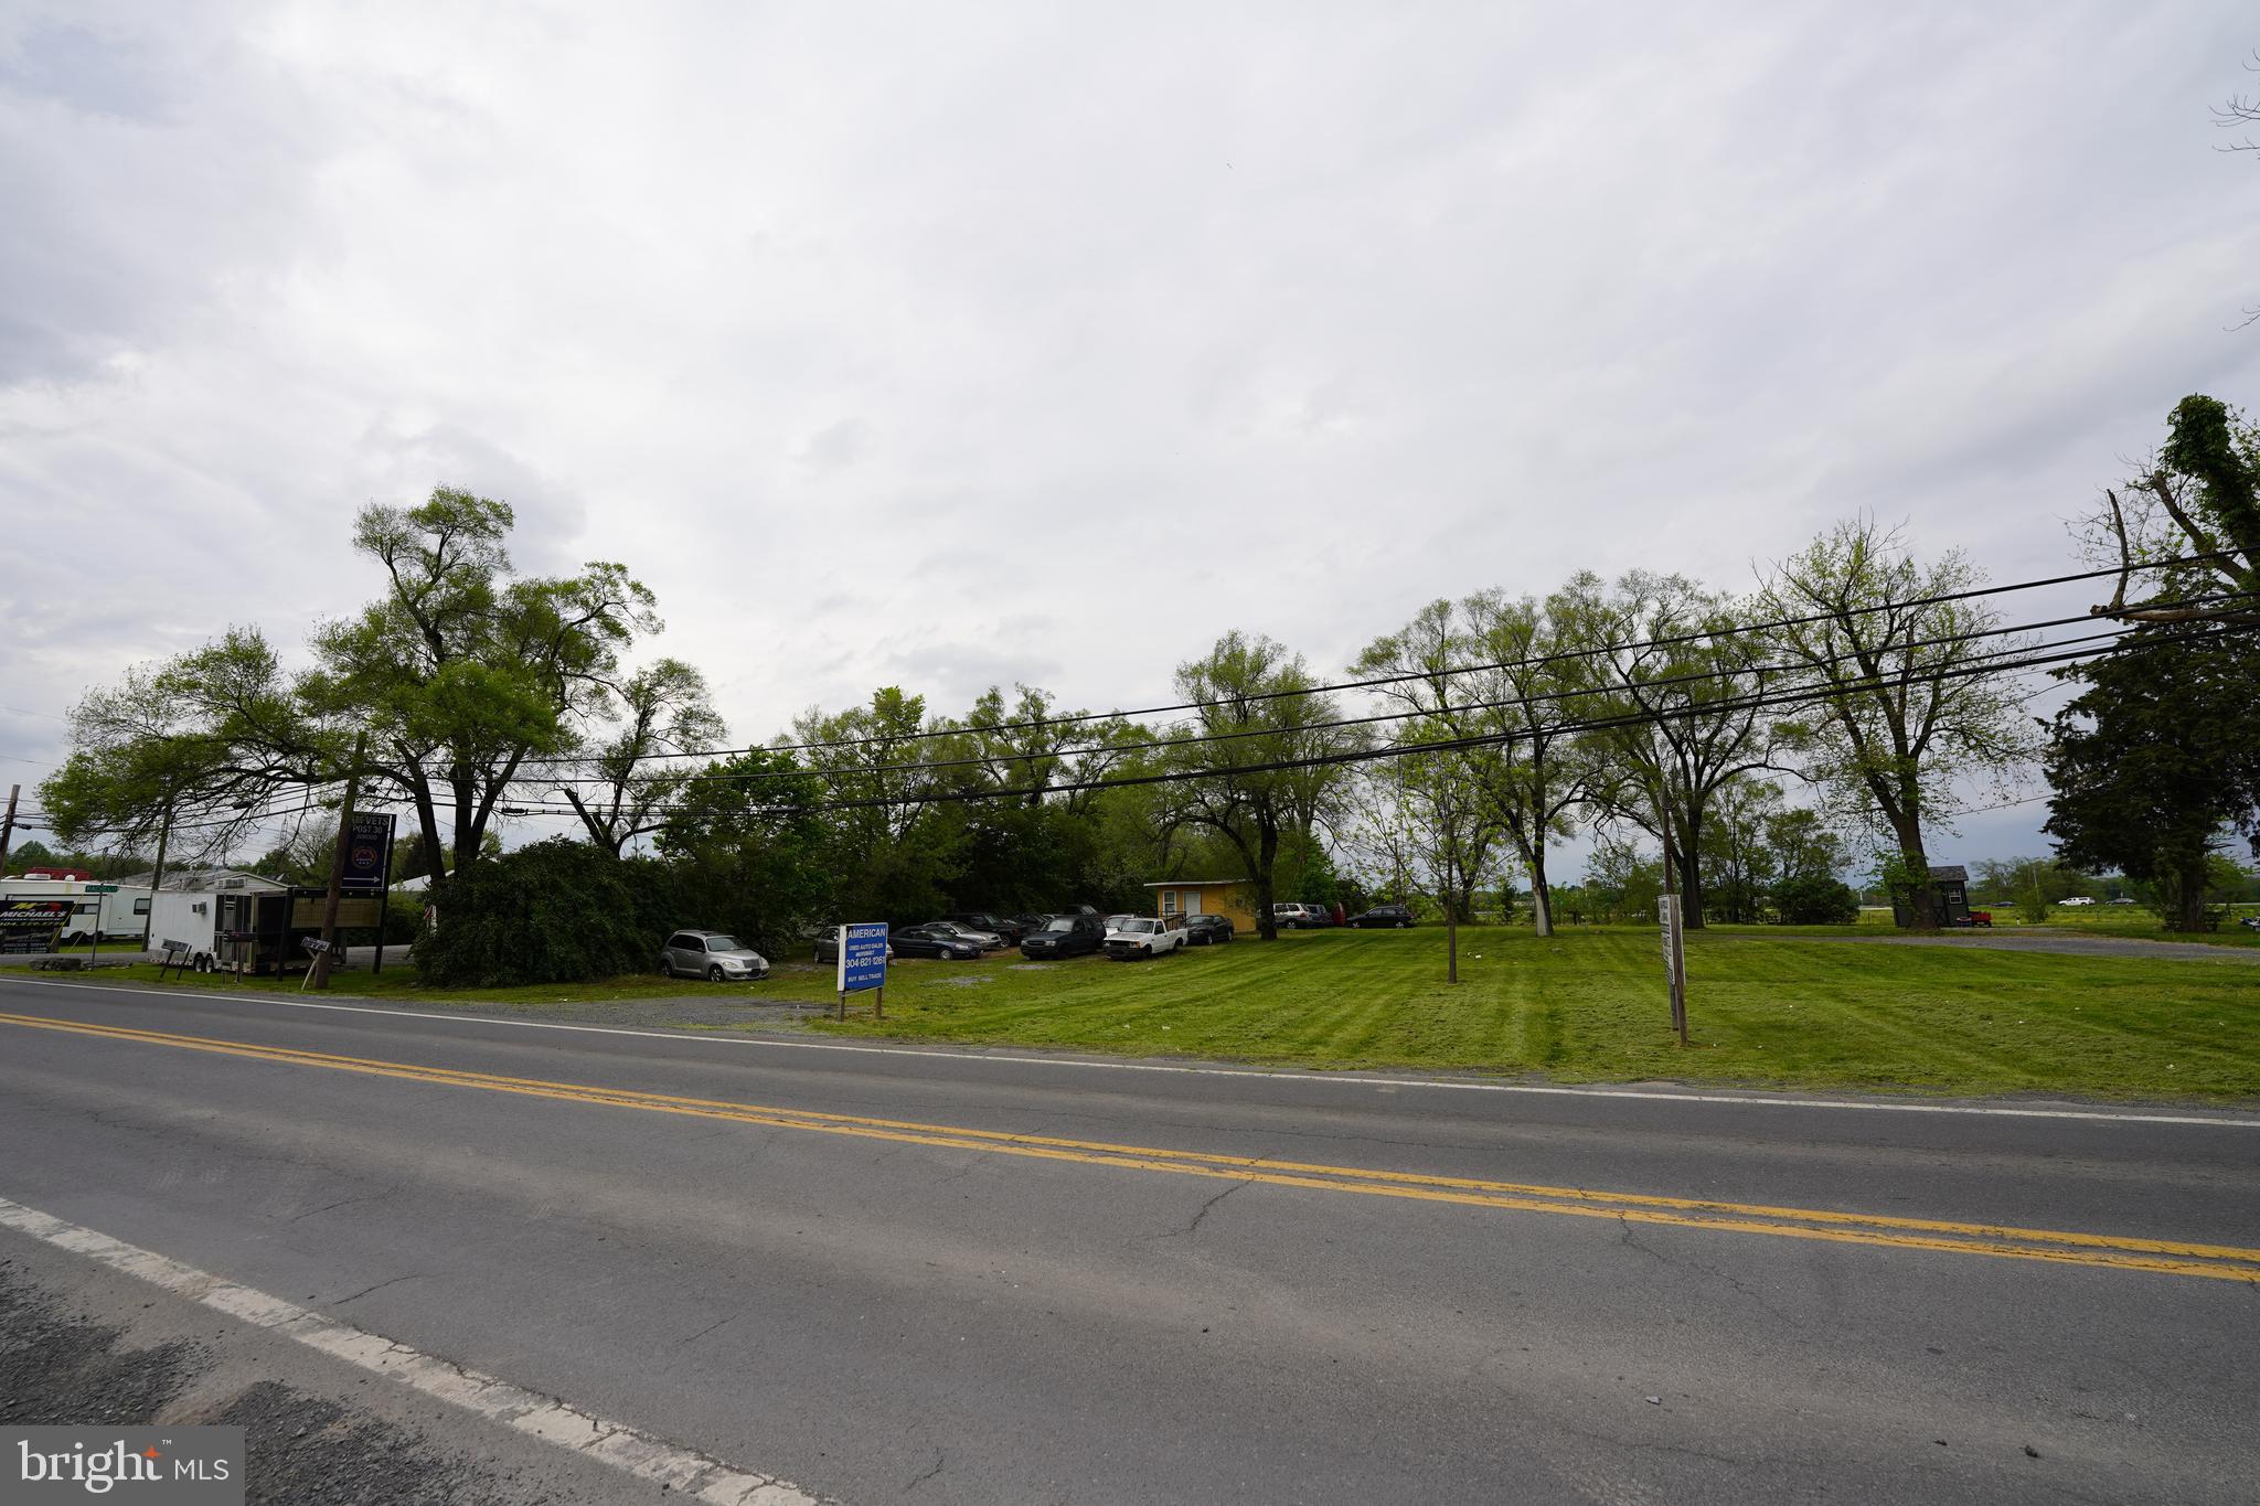
[[[416,944],[416,975],[447,987],[588,982],[642,973],[667,921],[631,867],[588,842],[551,838],[481,858],[434,894],[438,923]]]

